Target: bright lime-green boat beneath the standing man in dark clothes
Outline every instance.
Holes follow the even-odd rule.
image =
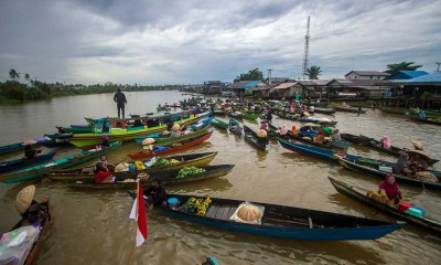
[[[74,146],[82,148],[94,147],[101,142],[104,134],[109,137],[110,142],[131,140],[137,137],[163,131],[169,120],[173,120],[181,126],[186,126],[197,123],[200,119],[201,117],[191,116],[189,112],[146,115],[125,119],[88,119],[93,124],[94,132],[74,135],[69,141]]]

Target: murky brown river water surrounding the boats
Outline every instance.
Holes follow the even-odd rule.
[[[126,112],[131,114],[155,112],[159,103],[184,98],[180,92],[132,92],[126,95]],[[0,106],[0,145],[35,139],[54,132],[56,125],[84,124],[83,117],[107,115],[116,115],[112,94]],[[342,132],[364,134],[377,139],[387,135],[392,145],[408,148],[411,147],[410,140],[419,140],[427,153],[441,158],[439,126],[417,124],[405,116],[386,115],[377,109],[369,109],[364,115],[337,113],[335,117],[327,117],[338,121]],[[246,123],[258,127],[257,121]],[[273,124],[294,125],[277,117]],[[214,130],[206,142],[185,152],[218,151],[212,165],[234,163],[236,167],[225,177],[170,187],[168,192],[286,204],[394,221],[374,208],[340,194],[327,177],[366,189],[376,189],[379,179],[291,152],[277,141],[270,142],[267,152],[258,151],[243,138],[217,128]],[[126,153],[139,149],[135,142],[126,142],[108,159],[121,161]],[[57,157],[78,150],[62,148]],[[396,160],[368,148],[351,147],[348,152]],[[12,157],[1,159],[9,158]],[[441,165],[435,165],[435,168],[441,170]],[[126,191],[78,190],[46,179],[0,183],[0,232],[8,231],[18,222],[20,216],[14,210],[14,198],[31,183],[36,186],[35,199],[50,194],[53,205],[53,222],[35,264],[193,265],[201,264],[208,255],[215,256],[220,264],[440,264],[441,237],[411,224],[374,241],[312,242],[230,232],[152,212],[148,214],[148,241],[135,248],[135,223],[129,220],[132,200]],[[441,220],[439,191],[406,184],[401,184],[401,190],[407,201]]]

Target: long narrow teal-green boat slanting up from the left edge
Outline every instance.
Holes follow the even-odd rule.
[[[15,183],[19,181],[36,179],[36,178],[42,177],[47,170],[71,168],[76,165],[98,158],[108,152],[111,152],[111,151],[118,149],[120,146],[121,146],[121,142],[112,142],[112,144],[110,144],[110,147],[101,149],[101,150],[95,150],[95,149],[87,150],[87,151],[79,152],[77,155],[60,158],[60,159],[49,162],[49,163],[43,163],[43,165],[39,165],[35,167],[9,172],[6,174],[0,174],[0,180],[3,181],[4,183]]]

